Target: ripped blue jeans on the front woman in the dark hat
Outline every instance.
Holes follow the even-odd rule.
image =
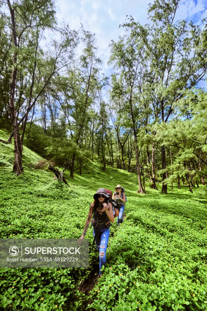
[[[109,228],[101,230],[93,228],[93,235],[95,236],[97,233],[95,242],[96,248],[99,251],[99,276],[101,275],[101,267],[106,264],[106,248],[108,245],[109,232]]]

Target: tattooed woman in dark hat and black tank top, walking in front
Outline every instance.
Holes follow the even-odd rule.
[[[99,276],[101,267],[106,264],[106,248],[109,239],[109,228],[111,222],[114,222],[113,208],[111,203],[106,203],[108,196],[106,190],[99,188],[94,194],[94,202],[90,204],[89,213],[85,222],[83,234],[80,239],[84,239],[88,226],[93,226],[93,235],[96,242],[96,248],[99,251]]]

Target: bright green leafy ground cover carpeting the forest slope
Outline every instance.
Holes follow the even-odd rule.
[[[7,135],[0,131],[0,138]],[[0,143],[0,238],[79,238],[89,204],[100,187],[121,183],[127,193],[126,218],[115,220],[103,276],[90,292],[78,286],[89,269],[0,269],[0,310],[207,310],[206,187],[164,195],[146,188],[137,194],[135,174],[89,161],[82,175],[53,180],[33,169],[41,157],[24,147],[24,174],[12,173],[14,145]],[[86,238],[93,241],[92,229]]]

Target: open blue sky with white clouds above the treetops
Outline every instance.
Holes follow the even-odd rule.
[[[140,24],[149,23],[148,3],[153,0],[57,0],[58,22],[67,22],[72,29],[78,30],[83,23],[86,30],[95,33],[99,46],[98,55],[103,60],[102,72],[109,76],[112,68],[107,65],[110,56],[108,45],[111,39],[118,40],[124,34],[119,25],[131,15]],[[207,0],[183,0],[180,3],[176,20],[188,18],[200,24],[207,17]],[[81,47],[78,51],[81,53]]]

